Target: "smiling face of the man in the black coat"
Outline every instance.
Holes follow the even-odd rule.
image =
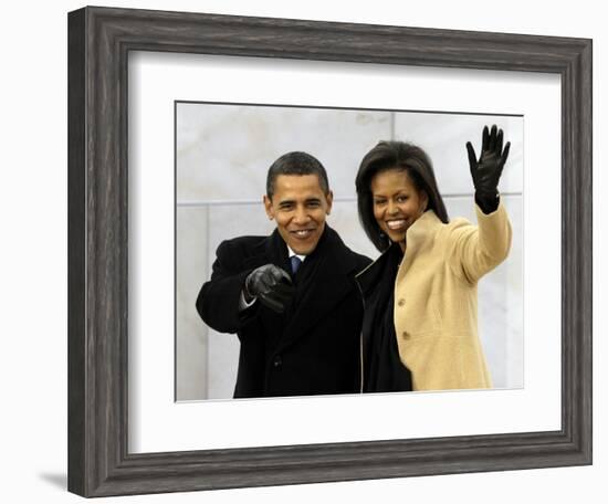
[[[307,255],[323,234],[332,200],[332,191],[323,192],[316,175],[280,175],[272,200],[264,196],[264,207],[285,243],[296,254]]]

